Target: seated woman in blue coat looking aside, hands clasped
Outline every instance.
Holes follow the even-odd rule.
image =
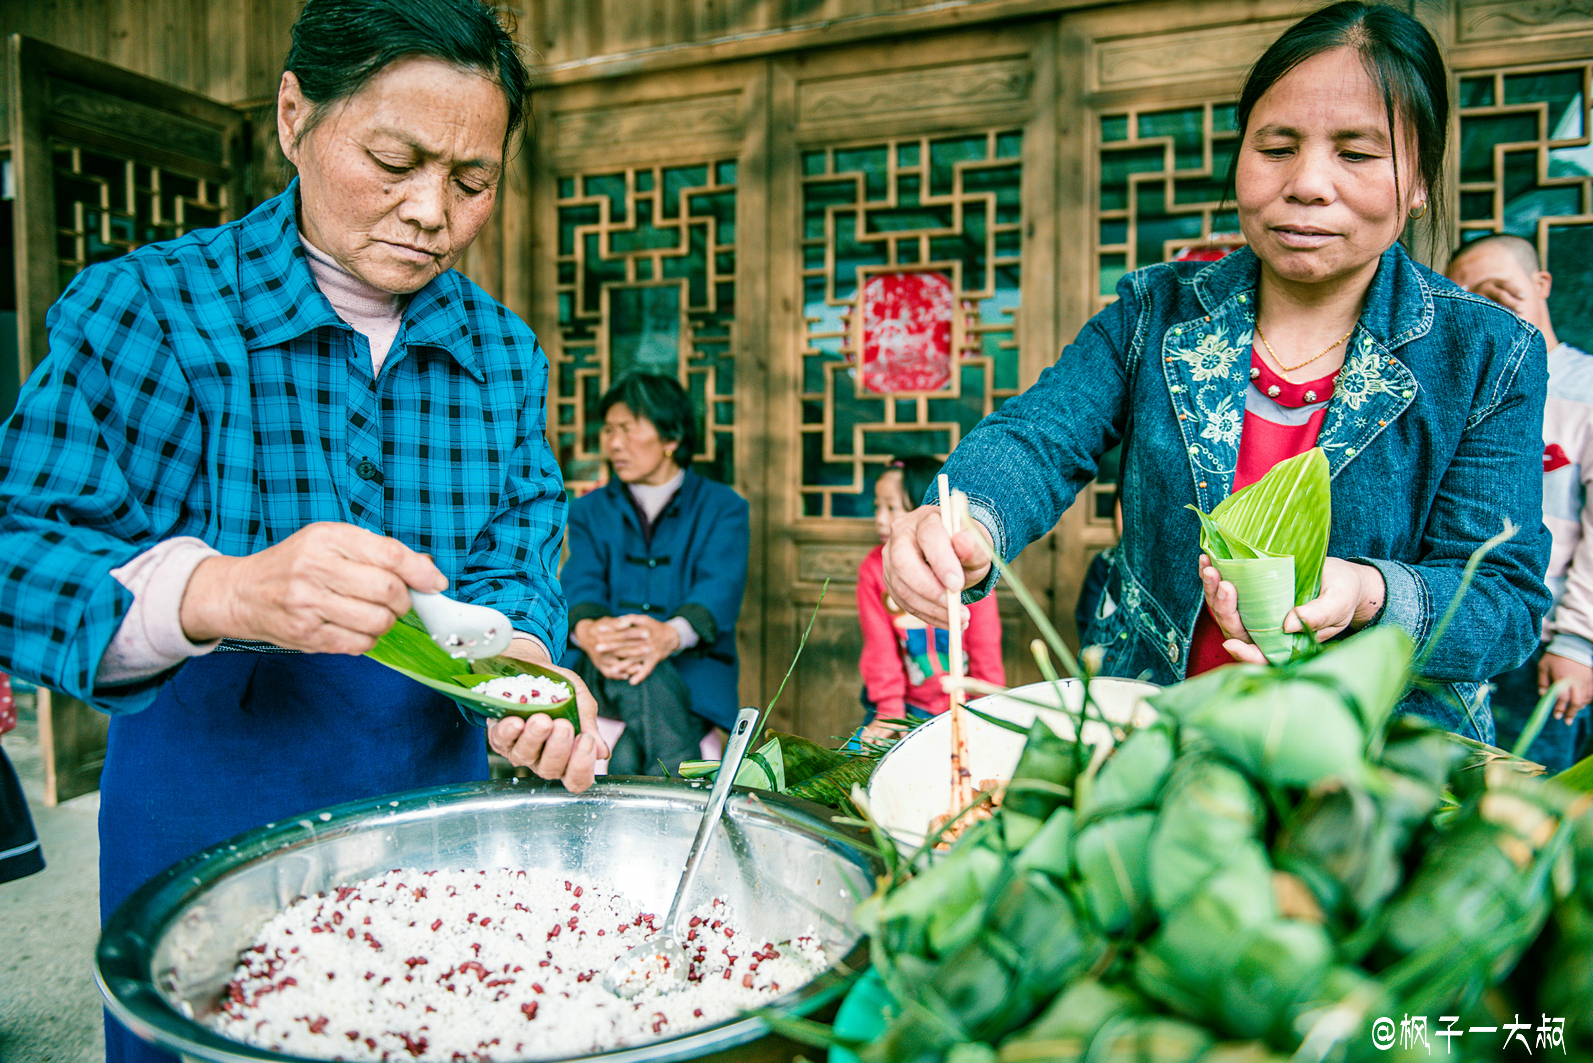
[[[736,717],[747,500],[691,472],[696,418],[675,379],[629,373],[597,410],[613,477],[570,504],[566,666],[626,725],[612,773],[674,773]]]

